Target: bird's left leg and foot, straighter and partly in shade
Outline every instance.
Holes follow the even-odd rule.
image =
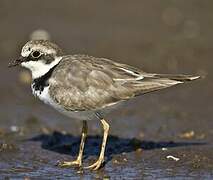
[[[87,136],[87,121],[83,121],[83,127],[82,127],[82,135],[81,135],[81,144],[79,147],[79,153],[78,153],[78,157],[75,161],[64,161],[64,162],[60,162],[59,166],[60,167],[69,167],[69,166],[82,166],[82,157],[83,157],[83,151],[84,151],[84,144],[85,144],[85,140],[86,140],[86,136]]]

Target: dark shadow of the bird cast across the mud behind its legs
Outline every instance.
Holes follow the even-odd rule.
[[[72,136],[70,134],[62,134],[60,132],[53,132],[52,134],[40,134],[35,136],[30,141],[40,141],[41,146],[44,149],[58,152],[61,154],[70,154],[77,156],[78,148],[80,144],[80,136]],[[101,136],[88,136],[86,141],[86,148],[84,156],[87,158],[91,155],[98,155],[100,150],[100,144],[102,142]],[[206,143],[199,142],[153,142],[153,141],[141,141],[135,138],[120,138],[117,136],[109,136],[106,157],[107,160],[112,159],[112,155],[121,154],[123,152],[133,152],[138,148],[143,150],[152,150],[159,148],[173,148],[181,146],[194,146],[194,145],[205,145]]]

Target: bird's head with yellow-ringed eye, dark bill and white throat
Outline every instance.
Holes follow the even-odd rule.
[[[21,51],[21,56],[9,64],[9,67],[21,65],[32,72],[32,78],[39,78],[58,64],[63,55],[62,50],[47,40],[27,42]]]

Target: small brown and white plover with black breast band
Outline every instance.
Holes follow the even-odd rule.
[[[103,139],[98,160],[85,169],[103,166],[110,125],[104,118],[117,105],[145,93],[168,88],[200,76],[147,73],[139,68],[89,55],[67,55],[49,40],[28,41],[21,56],[8,65],[31,71],[34,96],[62,114],[82,121],[82,134],[77,159],[59,161],[60,167],[82,168],[87,136],[87,121],[102,124]]]

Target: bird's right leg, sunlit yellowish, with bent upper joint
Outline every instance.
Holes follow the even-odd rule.
[[[109,132],[109,124],[104,119],[101,119],[100,121],[102,123],[103,130],[104,130],[101,152],[100,152],[98,160],[91,166],[85,167],[85,169],[98,170],[101,167],[102,163],[104,162],[104,153],[106,148],[107,136]]]

